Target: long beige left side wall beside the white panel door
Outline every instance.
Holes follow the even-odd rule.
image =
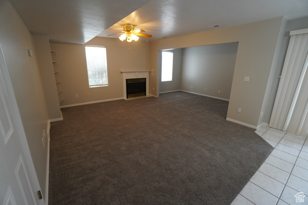
[[[48,113],[31,34],[7,0],[0,1],[0,44],[43,196],[46,193],[47,146],[42,144]],[[33,56],[29,57],[28,49]]]

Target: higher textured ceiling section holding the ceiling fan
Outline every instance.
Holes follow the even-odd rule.
[[[281,16],[288,20],[307,17],[308,0],[152,0],[110,29],[122,30],[123,24],[131,23],[152,35],[140,39],[157,41]],[[217,24],[221,27],[208,28]],[[98,36],[116,33],[106,30]]]

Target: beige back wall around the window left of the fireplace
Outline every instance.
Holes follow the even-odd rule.
[[[89,88],[85,45],[106,46],[108,86]],[[127,41],[95,37],[84,45],[50,43],[50,47],[57,52],[53,60],[59,63],[55,69],[60,71],[56,79],[62,82],[58,85],[63,89],[61,106],[123,98],[120,71],[149,70],[149,43],[145,41],[131,42],[129,49]]]

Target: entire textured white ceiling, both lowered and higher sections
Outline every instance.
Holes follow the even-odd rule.
[[[308,0],[10,0],[31,32],[83,44],[130,23],[157,41],[285,16],[308,17]],[[141,7],[142,6],[142,7]],[[141,7],[141,8],[140,8]],[[135,12],[134,12],[135,11]],[[133,13],[132,13],[133,12]],[[208,26],[221,25],[217,28]],[[102,32],[102,33],[101,33]],[[120,35],[110,36],[117,38]]]

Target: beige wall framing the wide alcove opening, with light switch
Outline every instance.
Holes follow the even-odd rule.
[[[151,94],[159,95],[157,53],[163,49],[239,42],[227,117],[257,126],[282,17],[150,43]],[[249,76],[249,82],[243,81]],[[241,108],[241,113],[237,113]]]

